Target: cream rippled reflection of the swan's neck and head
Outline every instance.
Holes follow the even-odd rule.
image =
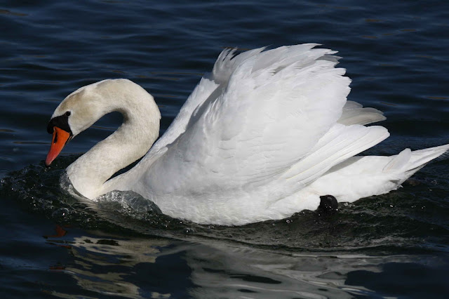
[[[54,241],[54,240],[50,240]],[[152,265],[161,254],[160,248],[168,246],[163,239],[123,239],[112,236],[75,237],[66,243],[73,261],[65,267],[65,273],[76,279],[81,293],[62,293],[53,291],[52,295],[61,298],[81,296],[89,298],[85,291],[102,295],[119,295],[126,298],[170,298],[170,293],[156,291],[142,293],[142,286],[132,278],[138,265]],[[137,273],[139,274],[139,273]],[[157,276],[157,273],[154,273]],[[148,276],[151,280],[152,277]]]

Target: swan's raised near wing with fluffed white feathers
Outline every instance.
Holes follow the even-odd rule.
[[[340,119],[350,90],[335,52],[314,46],[222,53],[213,72],[223,75],[215,74],[220,88],[139,183],[156,194],[244,190],[286,173]]]

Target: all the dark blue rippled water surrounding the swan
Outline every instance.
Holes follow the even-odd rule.
[[[447,298],[447,158],[335,215],[243,227],[169,218],[139,197],[93,205],[63,192],[62,170],[119,126],[117,114],[43,166],[47,122],[80,86],[137,82],[155,96],[163,133],[222,48],[304,42],[340,51],[349,100],[385,112],[391,137],[366,154],[443,145],[447,11],[445,1],[3,1],[3,297]]]

